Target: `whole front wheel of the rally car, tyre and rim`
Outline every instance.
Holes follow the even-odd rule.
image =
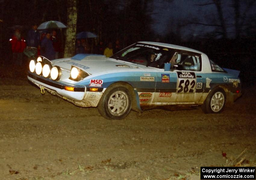
[[[98,104],[98,111],[106,119],[123,119],[131,110],[131,95],[125,87],[107,89]]]

